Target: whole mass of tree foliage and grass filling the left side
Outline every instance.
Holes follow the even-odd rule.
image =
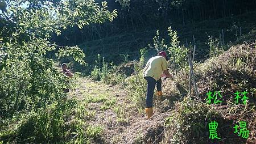
[[[70,57],[84,65],[85,54],[77,46],[59,46],[50,39],[63,29],[112,21],[117,11],[94,1],[0,2],[0,141],[85,143],[96,136],[99,130],[88,136],[85,121],[72,119],[77,105],[63,92],[69,80],[48,57]]]

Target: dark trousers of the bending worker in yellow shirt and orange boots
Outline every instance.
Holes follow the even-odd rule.
[[[152,77],[144,77],[144,79],[147,81],[146,108],[152,108],[155,84],[156,89],[162,91],[162,81],[161,78],[158,81],[155,81]]]

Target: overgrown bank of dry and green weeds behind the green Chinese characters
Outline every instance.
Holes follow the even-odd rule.
[[[172,114],[166,118],[163,141],[167,143],[213,142],[210,141],[208,135],[205,135],[205,132],[208,131],[207,124],[216,120],[221,127],[218,134],[225,143],[234,141],[245,143],[245,139],[233,133],[227,133],[232,132],[236,122],[244,120],[251,122],[249,126],[251,136],[247,142],[254,142],[255,139],[252,136],[255,132],[255,105],[253,103],[256,100],[253,94],[256,84],[254,65],[255,43],[233,46],[218,57],[196,64],[195,74],[200,98],[187,97],[175,103]],[[183,81],[181,77],[180,79]],[[221,92],[221,105],[207,104],[207,92],[209,91]],[[249,92],[246,105],[235,104],[234,93],[236,91]]]

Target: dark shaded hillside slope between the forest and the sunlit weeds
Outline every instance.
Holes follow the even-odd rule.
[[[181,43],[186,46],[189,46],[189,43],[193,43],[193,36],[195,37],[199,52],[196,54],[195,60],[200,61],[209,58],[208,36],[220,39],[222,30],[225,44],[230,44],[230,42],[242,44],[243,41],[253,41],[255,39],[256,19],[255,16],[251,15],[256,15],[256,11],[228,18],[187,23],[185,25],[170,23],[170,26],[177,31]],[[161,27],[159,30],[160,38],[164,38],[166,44],[168,44],[170,37],[168,37],[167,27]],[[156,29],[122,31],[102,39],[86,41],[79,46],[86,54],[86,62],[90,64],[97,60],[98,53],[105,57],[106,61],[121,63],[124,59],[121,54],[128,54],[129,60],[138,60],[139,50],[148,46],[155,35]]]

